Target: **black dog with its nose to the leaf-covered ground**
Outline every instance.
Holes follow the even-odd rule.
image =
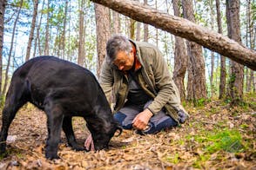
[[[45,156],[48,159],[58,158],[61,127],[72,148],[85,150],[77,144],[71,124],[72,116],[84,117],[96,150],[108,147],[117,130],[122,133],[122,127],[114,120],[102,88],[88,69],[54,56],[39,56],[25,62],[12,76],[3,108],[1,154],[5,152],[10,123],[17,110],[27,101],[44,110],[47,115]]]

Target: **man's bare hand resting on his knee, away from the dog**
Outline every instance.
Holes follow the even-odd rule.
[[[136,115],[132,121],[132,126],[138,130],[145,130],[152,115],[152,112],[146,108],[143,112],[140,112],[138,115]]]

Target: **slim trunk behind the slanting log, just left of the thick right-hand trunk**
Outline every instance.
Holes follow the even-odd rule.
[[[216,0],[218,32],[222,34],[221,15],[219,10],[219,0]],[[220,56],[220,81],[219,81],[219,99],[226,95],[226,57]]]

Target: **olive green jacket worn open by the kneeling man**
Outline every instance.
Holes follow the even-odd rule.
[[[179,109],[185,111],[185,109],[180,105],[179,90],[172,81],[172,75],[164,57],[158,48],[150,43],[133,43],[136,46],[137,59],[142,66],[141,69],[138,69],[138,83],[145,93],[154,99],[148,108],[153,114],[158,114],[165,107],[166,114],[170,114],[175,121],[179,122],[177,111]],[[114,96],[114,112],[123,108],[128,95],[128,78],[117,67],[108,64],[106,57],[102,65],[99,83],[109,101],[111,95]]]

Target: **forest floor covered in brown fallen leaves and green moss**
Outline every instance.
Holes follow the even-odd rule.
[[[181,127],[151,135],[124,130],[108,150],[73,151],[62,133],[60,159],[46,160],[46,116],[27,105],[10,126],[0,169],[256,169],[256,94],[236,108],[218,100],[185,108],[191,117]],[[85,121],[76,117],[73,126],[83,145]]]

